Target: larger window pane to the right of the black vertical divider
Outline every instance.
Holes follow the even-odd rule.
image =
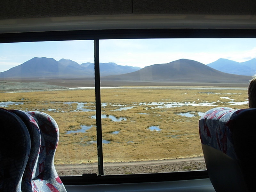
[[[255,62],[252,41],[100,40],[101,68],[108,62],[141,68],[101,73],[104,174],[206,169],[198,120],[214,107],[248,108],[247,87],[256,68],[235,71],[229,64]]]

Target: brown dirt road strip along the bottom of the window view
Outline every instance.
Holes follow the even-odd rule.
[[[98,173],[98,164],[64,164],[55,165],[59,175],[82,175],[83,173]],[[176,172],[206,169],[204,157],[104,163],[104,174],[136,174],[156,172]]]

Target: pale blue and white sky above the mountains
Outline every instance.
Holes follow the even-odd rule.
[[[220,58],[244,62],[256,58],[256,39],[115,39],[100,40],[100,62],[144,68],[191,59],[209,64]],[[94,63],[93,41],[0,44],[0,72],[34,57]]]

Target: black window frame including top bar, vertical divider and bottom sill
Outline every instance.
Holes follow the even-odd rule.
[[[207,170],[143,173],[130,175],[104,175],[101,133],[99,40],[146,38],[256,38],[256,29],[111,29],[6,33],[0,35],[0,43],[94,40],[96,127],[99,175],[85,173],[82,176],[60,176],[64,185],[139,183],[208,178]]]

